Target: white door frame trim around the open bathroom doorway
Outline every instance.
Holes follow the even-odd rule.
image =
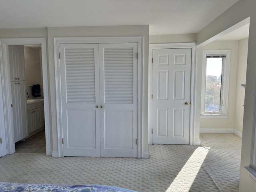
[[[50,147],[50,115],[49,115],[49,94],[48,94],[48,69],[46,56],[46,38],[2,38],[0,39],[0,75],[2,94],[0,94],[0,107],[3,116],[0,116],[1,126],[5,128],[5,144],[6,154],[15,152],[14,129],[12,109],[8,107],[11,103],[11,84],[10,84],[10,66],[8,56],[8,45],[41,45],[42,49],[42,74],[43,74],[43,90],[44,90],[44,118],[45,118],[45,139],[46,139],[46,155],[51,155]]]

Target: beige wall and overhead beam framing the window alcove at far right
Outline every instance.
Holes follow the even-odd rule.
[[[252,130],[254,124],[254,106],[256,105],[256,1],[239,0],[208,26],[198,32],[198,44],[204,44],[217,38],[218,34],[250,17],[250,31],[248,38],[248,57],[246,69],[246,89],[244,102],[244,122],[242,131],[242,154],[240,166],[240,192],[255,192],[256,181],[253,180],[244,166],[250,165],[250,154],[252,148]],[[200,81],[200,79],[196,79]],[[196,114],[198,115],[198,114]],[[198,118],[198,117],[197,117]],[[198,120],[198,119],[197,119]]]

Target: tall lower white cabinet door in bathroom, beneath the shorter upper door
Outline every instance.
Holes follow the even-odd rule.
[[[12,114],[14,126],[14,141],[17,142],[28,136],[26,117],[26,83],[11,82]]]

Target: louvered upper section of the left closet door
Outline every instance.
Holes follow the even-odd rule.
[[[95,103],[94,48],[66,48],[67,103]]]

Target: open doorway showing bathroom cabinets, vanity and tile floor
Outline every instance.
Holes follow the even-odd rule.
[[[41,45],[9,45],[15,152],[46,154]]]

